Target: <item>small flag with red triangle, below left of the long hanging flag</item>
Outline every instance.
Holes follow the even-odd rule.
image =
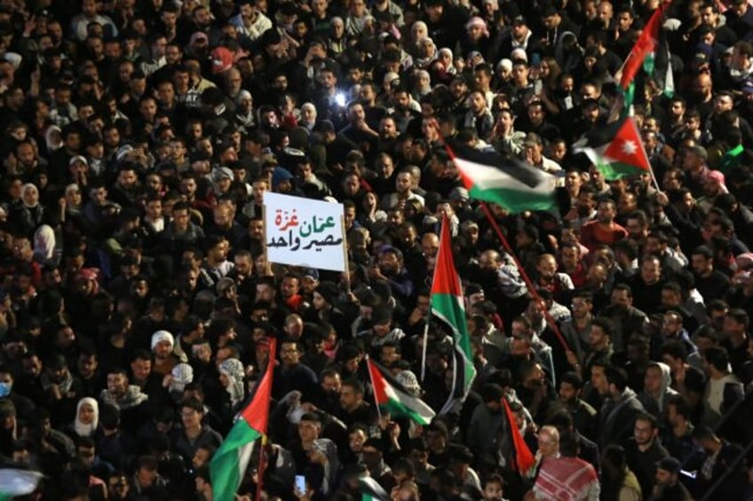
[[[432,422],[434,411],[423,400],[410,395],[407,389],[400,385],[384,367],[370,358],[366,361],[369,366],[371,386],[374,387],[376,405],[392,416],[405,416],[413,419],[419,425]]]

